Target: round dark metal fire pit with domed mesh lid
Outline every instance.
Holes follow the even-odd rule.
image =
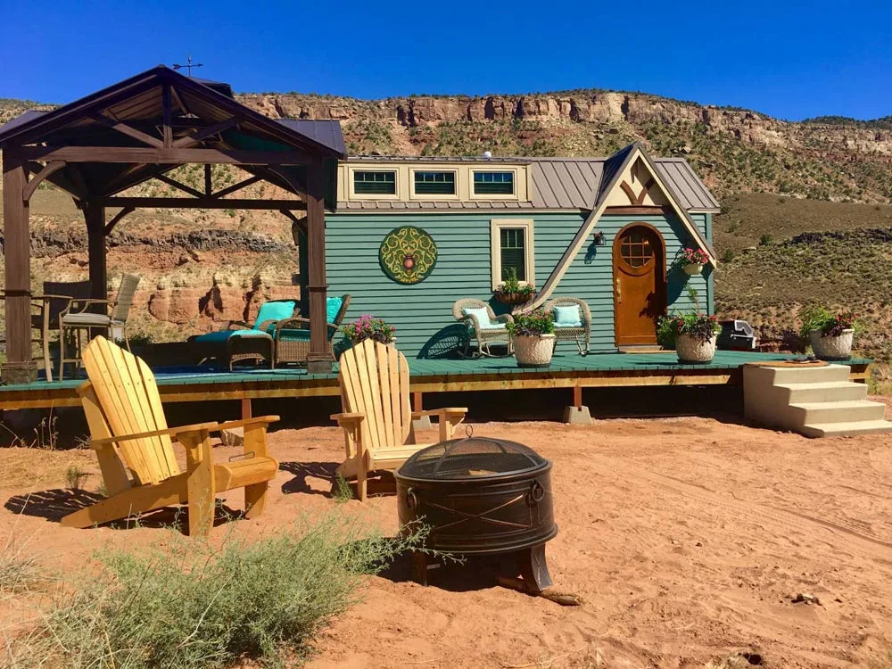
[[[431,528],[426,549],[460,555],[515,553],[530,590],[551,584],[545,542],[558,533],[551,462],[523,444],[474,437],[441,442],[395,473],[400,524]],[[428,559],[413,557],[417,582]]]

